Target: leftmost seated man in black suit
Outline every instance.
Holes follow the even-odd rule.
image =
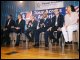
[[[13,32],[13,27],[15,27],[15,21],[13,20],[12,15],[9,15],[8,20],[6,20],[5,29],[4,29],[7,45],[10,44],[9,34]]]

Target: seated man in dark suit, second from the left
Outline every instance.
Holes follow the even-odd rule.
[[[18,15],[18,19],[16,20],[16,28],[15,31],[17,34],[24,33],[25,30],[25,20],[22,19],[22,15]],[[19,45],[20,35],[17,36],[16,46]]]

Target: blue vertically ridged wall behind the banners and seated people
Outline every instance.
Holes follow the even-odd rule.
[[[64,1],[64,7],[73,4],[79,6],[79,1]],[[21,4],[19,1],[1,1],[1,26],[5,25],[5,21],[8,14],[13,15],[13,19],[17,19],[17,15],[20,12],[27,12],[35,10],[34,1],[23,1]]]

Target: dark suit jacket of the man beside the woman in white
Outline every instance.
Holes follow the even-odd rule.
[[[52,24],[51,26],[54,27],[55,26],[55,22],[56,22],[56,16],[52,17]],[[57,20],[57,27],[63,27],[63,23],[64,23],[64,16],[59,14],[58,16],[58,20]]]

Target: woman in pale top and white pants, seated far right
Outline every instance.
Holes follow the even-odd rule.
[[[62,27],[62,33],[65,39],[65,42],[72,42],[73,40],[73,31],[78,30],[79,25],[77,23],[79,17],[77,12],[75,12],[74,6],[70,5],[67,7],[67,14],[65,15],[65,23]]]

